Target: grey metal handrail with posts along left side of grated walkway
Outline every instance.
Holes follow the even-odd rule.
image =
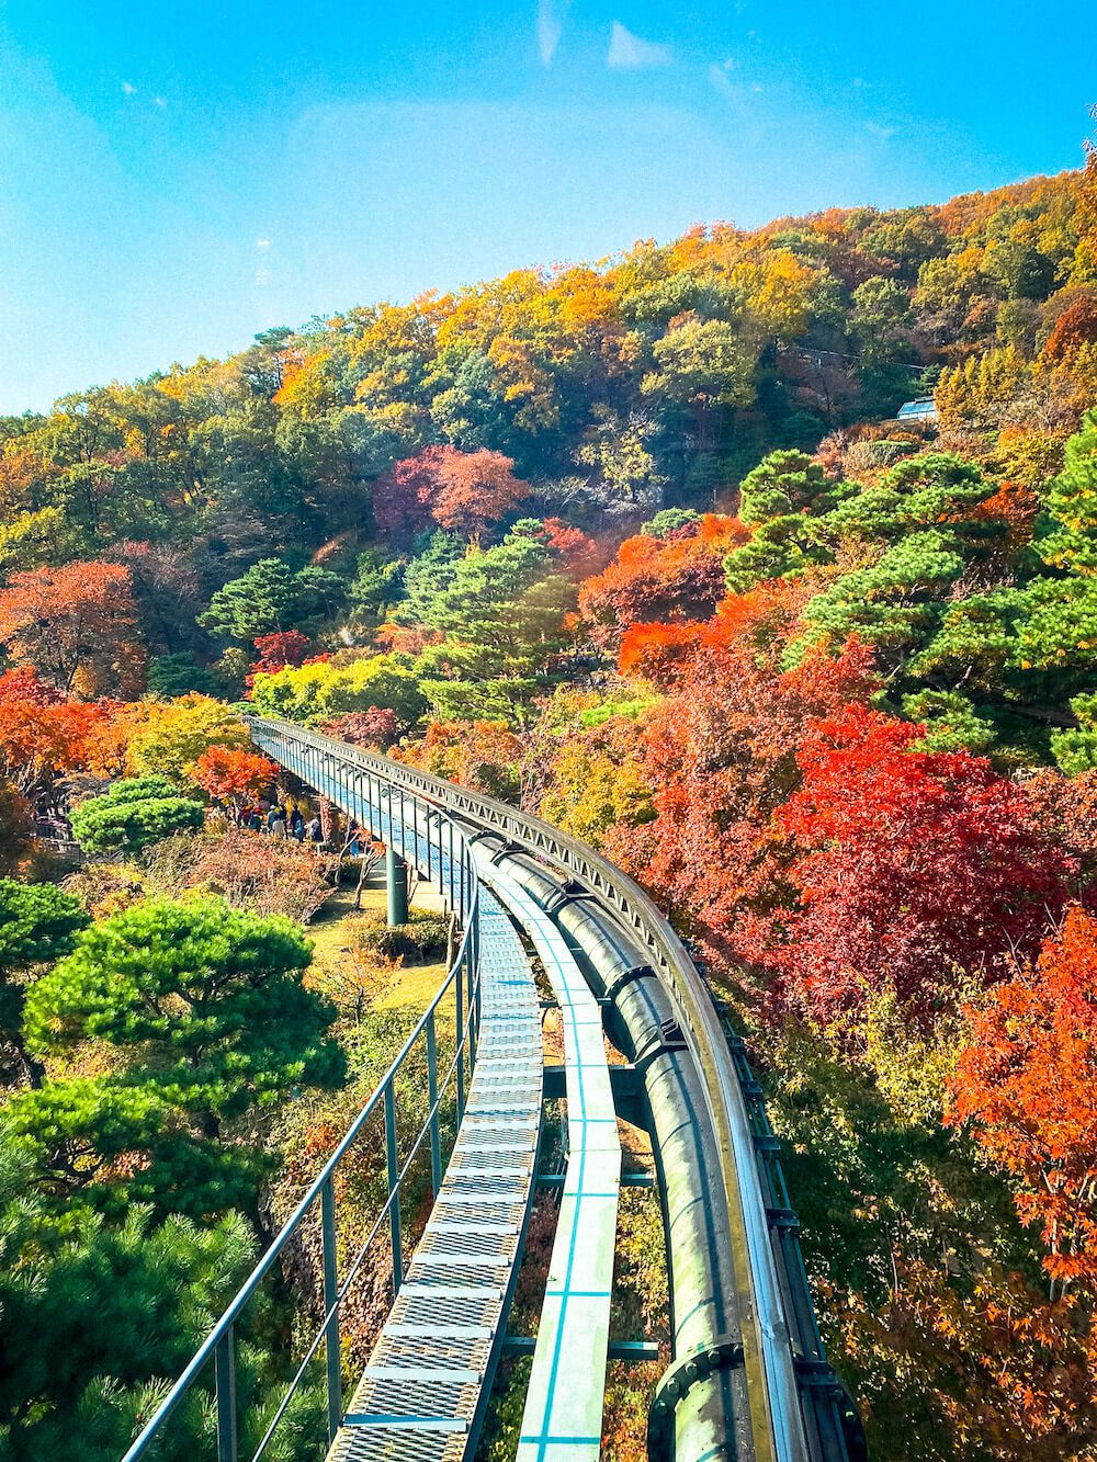
[[[339,743],[333,743],[344,749]],[[374,775],[382,775],[374,772]],[[464,1067],[465,1067],[465,1053],[468,1051],[470,1072],[472,1063],[475,1061],[475,1037],[477,1037],[477,1020],[478,1020],[478,988],[480,988],[480,939],[478,939],[478,921],[480,921],[480,879],[477,876],[475,860],[471,852],[468,839],[465,838],[464,829],[458,826],[453,819],[448,817],[445,811],[439,807],[430,807],[429,814],[439,817],[439,827],[442,826],[442,819],[449,825],[449,848],[446,849],[451,857],[451,877],[449,877],[449,902],[451,906],[456,902],[455,883],[453,883],[453,852],[459,852],[461,858],[461,912],[464,917],[461,940],[458,943],[453,961],[446,972],[446,978],[434,994],[433,1000],[427,1009],[420,1016],[411,1034],[404,1041],[404,1045],[389,1063],[388,1070],[380,1077],[377,1086],[370,1095],[366,1105],[361,1108],[358,1116],[354,1118],[348,1127],[344,1137],[336,1145],[335,1151],[326,1159],[317,1175],[313,1178],[304,1196],[300,1199],[294,1211],[282,1224],[278,1235],[274,1238],[268,1250],[260,1257],[259,1263],[255,1266],[252,1273],[247,1276],[244,1284],[240,1287],[234,1298],[230,1301],[221,1319],[212,1327],[206,1339],[202,1342],[199,1349],[195,1352],[193,1358],[178,1377],[178,1380],[171,1386],[164,1399],[157,1406],[155,1412],[149,1421],[142,1428],[140,1434],[132,1443],[126,1452],[121,1462],[137,1462],[143,1458],[149,1449],[157,1442],[162,1427],[167,1424],[168,1418],[174,1414],[184,1396],[189,1395],[199,1376],[205,1371],[209,1363],[214,1363],[216,1376],[216,1434],[218,1434],[218,1462],[237,1462],[237,1402],[235,1402],[235,1355],[234,1355],[234,1330],[235,1323],[240,1319],[244,1307],[247,1306],[252,1295],[256,1292],[262,1281],[271,1272],[275,1260],[281,1257],[282,1251],[288,1246],[290,1240],[294,1237],[297,1230],[301,1227],[304,1219],[316,1206],[317,1200],[320,1203],[320,1225],[322,1225],[322,1265],[323,1265],[323,1303],[325,1314],[320,1326],[313,1336],[313,1341],[306,1352],[306,1358],[301,1363],[297,1374],[290,1383],[287,1395],[268,1427],[259,1449],[253,1455],[252,1462],[257,1459],[266,1450],[272,1436],[274,1428],[278,1421],[281,1421],[285,1409],[295,1395],[303,1377],[306,1367],[316,1357],[320,1342],[326,1342],[328,1355],[328,1431],[329,1440],[333,1440],[335,1431],[342,1420],[342,1404],[341,1404],[341,1374],[339,1374],[339,1344],[338,1344],[338,1316],[342,1298],[347,1294],[347,1288],[353,1278],[357,1275],[358,1269],[366,1256],[366,1250],[376,1238],[377,1232],[385,1224],[385,1219],[391,1219],[391,1235],[392,1235],[392,1266],[393,1266],[393,1289],[398,1291],[401,1285],[402,1273],[402,1253],[401,1253],[401,1230],[399,1230],[399,1193],[405,1177],[411,1171],[412,1161],[418,1155],[423,1143],[430,1139],[431,1146],[431,1183],[434,1192],[440,1183],[440,1162],[439,1162],[439,1114],[442,1107],[442,1098],[446,1094],[449,1083],[456,1076],[458,1088],[458,1117],[461,1116],[462,1107],[462,1088],[464,1088]],[[383,826],[383,816],[380,807],[377,807],[377,816],[380,825]],[[429,826],[429,823],[427,823]],[[389,836],[393,836],[392,810],[389,810]],[[405,846],[407,839],[401,839],[402,846]],[[405,848],[407,851],[407,848]],[[443,879],[442,867],[442,841],[439,836],[439,887],[445,893],[446,880]],[[418,848],[415,848],[415,854]],[[427,858],[430,857],[430,848]],[[430,876],[430,867],[427,867],[427,876]],[[461,988],[462,975],[468,974],[468,1003],[467,1015],[461,1016]],[[455,1031],[455,1051],[453,1060],[449,1070],[445,1075],[442,1083],[437,1082],[436,1070],[436,1015],[439,1006],[448,991],[453,988],[456,997],[458,1020]],[[426,1039],[427,1048],[427,1064],[429,1064],[429,1091],[430,1091],[430,1107],[427,1111],[427,1118],[423,1123],[415,1142],[412,1143],[408,1158],[401,1168],[398,1168],[396,1159],[396,1092],[395,1080],[396,1076],[411,1054],[411,1051],[418,1044],[420,1038]],[[336,1278],[336,1253],[335,1253],[335,1184],[333,1177],[336,1168],[339,1167],[342,1158],[354,1146],[357,1137],[361,1135],[363,1127],[380,1108],[385,1110],[385,1126],[386,1126],[386,1148],[388,1148],[388,1199],[377,1216],[370,1234],[367,1235],[364,1244],[360,1247],[358,1254],[351,1265],[351,1270],[342,1285],[338,1284]]]

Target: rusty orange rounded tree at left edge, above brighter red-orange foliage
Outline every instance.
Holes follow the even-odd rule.
[[[64,693],[139,687],[143,651],[129,569],[69,563],[12,575],[0,589],[0,642]]]

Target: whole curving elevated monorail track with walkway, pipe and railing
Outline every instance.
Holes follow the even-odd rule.
[[[610,1338],[623,1114],[651,1136],[671,1292],[649,1458],[857,1462],[860,1427],[823,1355],[761,1088],[655,905],[513,807],[288,722],[250,728],[385,842],[391,912],[414,866],[459,939],[423,1018],[124,1462],[170,1450],[196,1404],[211,1408],[216,1462],[471,1462],[512,1352],[532,1357],[518,1462],[594,1462],[607,1361],[652,1354],[642,1336]],[[563,1032],[563,1061],[548,1066],[546,1006]],[[626,1064],[608,1064],[606,1034]],[[562,1143],[548,1095],[565,1104]],[[383,1197],[363,1218],[342,1194],[370,1158]],[[508,1316],[538,1187],[559,1194],[556,1232],[537,1333],[518,1338]],[[317,1259],[316,1323],[287,1341],[278,1393],[244,1405],[237,1342],[303,1253]],[[379,1272],[388,1316],[355,1363],[360,1291]]]

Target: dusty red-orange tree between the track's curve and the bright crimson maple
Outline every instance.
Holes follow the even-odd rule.
[[[708,624],[629,642],[667,692],[645,716],[641,759],[655,816],[608,829],[603,846],[724,963],[778,899],[772,819],[799,782],[807,722],[876,686],[872,654],[856,642],[781,671],[799,592],[736,595]]]

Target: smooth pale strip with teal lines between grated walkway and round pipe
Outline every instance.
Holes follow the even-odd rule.
[[[480,867],[522,925],[560,1004],[568,1170],[548,1266],[518,1462],[595,1462],[617,1235],[620,1139],[598,1003],[563,934],[513,879]]]

